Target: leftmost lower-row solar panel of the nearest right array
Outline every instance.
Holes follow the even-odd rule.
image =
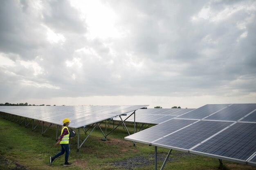
[[[141,142],[147,142],[151,143],[156,139],[159,139],[160,137],[163,137],[165,135],[168,135],[172,132],[175,132],[189,124],[192,124],[196,120],[181,120],[181,119],[172,119],[167,122],[164,122],[162,124],[158,124],[156,126],[153,126],[149,129],[145,129],[143,131],[140,131],[138,133],[132,134],[128,137],[125,137],[125,139],[128,140],[135,140],[135,141],[141,141]]]

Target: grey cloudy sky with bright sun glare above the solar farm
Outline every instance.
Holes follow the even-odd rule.
[[[256,102],[254,0],[0,3],[0,103]]]

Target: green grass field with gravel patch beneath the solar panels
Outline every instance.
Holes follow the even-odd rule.
[[[105,128],[104,126],[102,126]],[[130,133],[134,125],[128,124]],[[101,141],[103,135],[99,129],[94,129],[88,140],[76,152],[77,135],[70,141],[69,167],[64,167],[64,155],[58,157],[49,165],[49,157],[60,151],[55,146],[56,125],[51,126],[42,135],[42,124],[32,131],[32,125],[11,122],[0,117],[0,170],[118,170],[154,169],[154,146],[124,140],[127,132],[122,126],[108,135],[107,141]],[[46,126],[45,126],[46,129]],[[108,127],[112,130],[112,125]],[[59,130],[59,134],[61,131]],[[80,130],[80,144],[85,139],[85,133]],[[168,149],[157,147],[157,169],[160,169],[168,153]],[[225,170],[256,170],[248,166],[230,161],[223,161],[221,169]],[[193,155],[173,150],[166,163],[166,170],[214,170],[219,169],[218,159]]]

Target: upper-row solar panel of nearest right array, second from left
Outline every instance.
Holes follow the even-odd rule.
[[[209,116],[206,120],[231,120],[237,121],[256,109],[256,104],[233,104]]]

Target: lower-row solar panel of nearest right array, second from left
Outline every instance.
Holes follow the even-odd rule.
[[[188,126],[180,131],[159,139],[153,144],[165,145],[175,148],[182,148],[189,150],[193,146],[199,144],[203,140],[211,137],[225,127],[229,126],[232,122],[217,122],[217,121],[204,121],[201,120]]]

